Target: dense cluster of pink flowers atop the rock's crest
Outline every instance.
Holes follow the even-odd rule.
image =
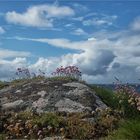
[[[76,66],[67,66],[60,68],[57,68],[55,72],[52,73],[53,76],[66,76],[66,77],[72,77],[76,79],[80,79],[82,74],[78,67]]]

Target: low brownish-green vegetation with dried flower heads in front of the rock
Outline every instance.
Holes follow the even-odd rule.
[[[86,117],[94,117],[93,123]],[[38,139],[61,136],[68,139],[92,139],[107,136],[119,120],[117,112],[96,110],[86,113],[12,113],[4,122],[3,133],[8,139]],[[26,136],[26,137],[25,137]]]

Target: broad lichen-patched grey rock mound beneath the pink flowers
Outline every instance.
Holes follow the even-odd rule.
[[[86,112],[107,106],[87,85],[61,80],[28,81],[0,90],[4,111]]]

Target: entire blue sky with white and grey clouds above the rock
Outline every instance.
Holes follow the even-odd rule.
[[[0,0],[0,80],[68,65],[90,83],[139,82],[140,1]]]

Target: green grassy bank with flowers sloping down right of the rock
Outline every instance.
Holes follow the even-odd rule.
[[[140,111],[139,97],[128,94],[129,88],[121,87],[119,92],[113,92],[102,87],[92,86],[96,94],[112,109],[121,113],[118,128],[109,132],[105,140],[139,140],[140,139]]]

